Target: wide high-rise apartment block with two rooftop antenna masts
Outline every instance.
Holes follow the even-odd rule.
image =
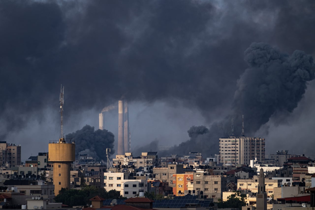
[[[245,164],[257,158],[265,159],[265,139],[256,137],[229,137],[219,140],[219,162],[226,166]]]

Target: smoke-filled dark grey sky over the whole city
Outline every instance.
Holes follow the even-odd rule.
[[[178,145],[193,125],[216,148],[244,114],[267,154],[312,155],[312,0],[0,1],[0,28],[0,137],[22,160],[60,137],[61,83],[66,134],[125,96],[135,149]],[[117,110],[105,119],[117,141]]]

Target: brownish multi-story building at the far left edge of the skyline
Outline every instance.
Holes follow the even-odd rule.
[[[21,145],[0,141],[0,165],[7,167],[21,165]]]

